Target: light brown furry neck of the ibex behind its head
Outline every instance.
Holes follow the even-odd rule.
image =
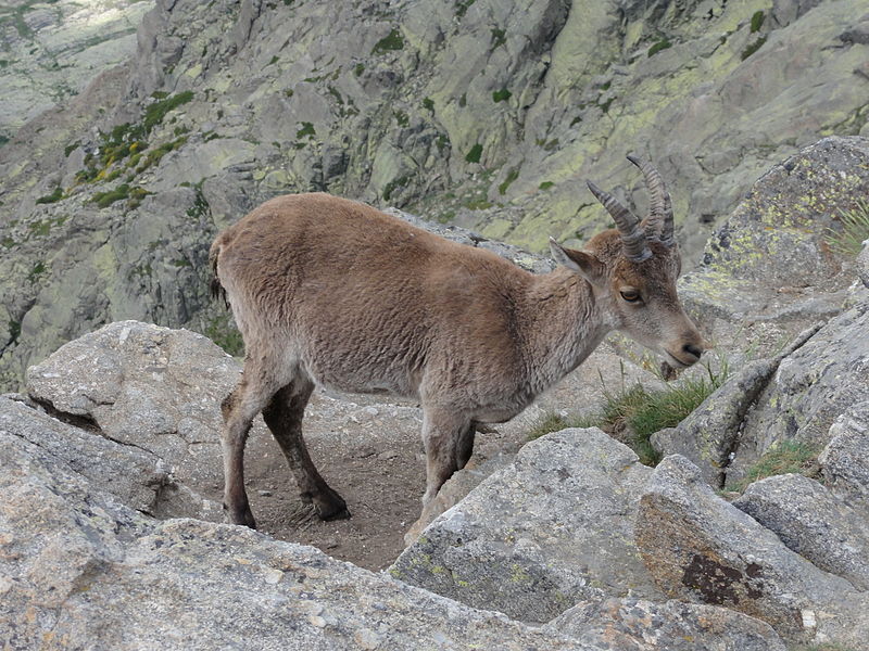
[[[595,302],[591,285],[563,267],[538,277],[528,301],[529,388],[539,395],[577,368],[613,323]]]

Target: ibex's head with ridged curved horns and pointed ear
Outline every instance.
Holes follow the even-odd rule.
[[[612,215],[617,228],[599,233],[583,251],[564,248],[554,240],[555,259],[582,276],[612,327],[660,354],[670,366],[689,367],[706,348],[676,293],[681,271],[672,237],[672,203],[660,175],[647,163],[628,159],[643,173],[650,193],[642,221],[612,194],[589,181],[589,189]]]

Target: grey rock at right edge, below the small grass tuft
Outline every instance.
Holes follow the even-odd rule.
[[[869,590],[869,512],[797,474],[755,482],[733,506],[816,566]]]

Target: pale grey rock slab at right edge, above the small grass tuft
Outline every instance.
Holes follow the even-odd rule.
[[[747,414],[728,483],[742,478],[770,446],[797,441],[819,450],[830,425],[869,394],[869,302],[831,319],[785,357]]]

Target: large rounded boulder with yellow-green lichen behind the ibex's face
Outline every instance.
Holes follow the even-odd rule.
[[[764,174],[706,244],[680,293],[708,329],[754,321],[805,327],[842,309],[854,280],[831,254],[840,210],[869,192],[869,141],[831,137]]]

